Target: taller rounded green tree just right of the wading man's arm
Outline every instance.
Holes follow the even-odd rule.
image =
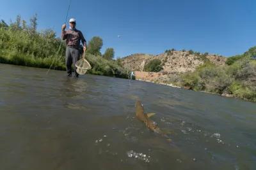
[[[99,36],[95,36],[91,39],[91,41],[89,41],[87,52],[93,55],[101,55],[100,49],[102,48],[102,46],[102,38],[100,38]]]

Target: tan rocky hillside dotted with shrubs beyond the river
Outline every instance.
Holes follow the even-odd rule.
[[[162,73],[185,73],[195,71],[196,67],[204,62],[212,62],[218,66],[225,65],[227,58],[207,53],[195,53],[191,51],[168,51],[159,55],[134,54],[122,59],[122,64],[133,71],[143,71],[143,66],[150,60],[162,61]]]

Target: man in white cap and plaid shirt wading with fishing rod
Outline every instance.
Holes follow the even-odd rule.
[[[74,64],[75,76],[78,77],[79,74],[76,72],[76,62],[79,60],[79,46],[80,41],[82,41],[84,46],[84,52],[86,51],[86,40],[81,31],[76,29],[76,20],[71,18],[69,20],[70,29],[65,31],[66,24],[62,25],[61,38],[66,39],[67,49],[66,49],[66,66],[68,76],[72,76],[72,62]]]

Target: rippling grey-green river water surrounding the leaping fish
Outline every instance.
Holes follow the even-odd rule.
[[[0,169],[256,169],[255,103],[46,71],[0,64]]]

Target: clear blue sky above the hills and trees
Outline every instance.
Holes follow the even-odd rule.
[[[0,19],[29,22],[36,13],[39,31],[60,36],[69,1],[0,0]],[[87,41],[100,36],[102,53],[111,47],[115,57],[171,48],[230,57],[256,45],[255,9],[255,0],[71,0],[68,18]]]

